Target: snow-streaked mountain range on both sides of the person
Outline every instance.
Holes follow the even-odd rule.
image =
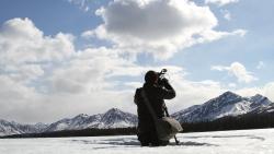
[[[172,114],[180,122],[213,121],[226,116],[246,114],[274,112],[274,103],[267,97],[256,94],[242,97],[232,92],[226,92],[202,105],[194,105]],[[112,129],[136,127],[138,118],[134,114],[112,108],[104,114],[80,114],[73,118],[65,118],[50,125],[21,125],[14,121],[0,120],[0,135],[53,132],[60,130],[81,130],[87,128]]]

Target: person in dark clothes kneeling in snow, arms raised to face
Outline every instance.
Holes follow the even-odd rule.
[[[137,88],[134,96],[138,112],[137,137],[141,146],[167,145],[169,141],[161,141],[157,137],[152,116],[140,94],[142,90],[158,118],[164,116],[164,99],[174,98],[175,91],[165,78],[159,79],[159,73],[150,70],[145,75],[144,86]]]

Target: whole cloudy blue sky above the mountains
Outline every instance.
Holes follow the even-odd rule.
[[[170,112],[226,91],[274,100],[274,1],[1,0],[0,119],[136,114],[148,70],[168,69]]]

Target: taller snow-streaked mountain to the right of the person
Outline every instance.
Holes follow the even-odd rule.
[[[272,102],[267,97],[259,94],[248,98],[232,92],[226,92],[202,105],[192,106],[172,116],[181,122],[212,121],[226,116],[248,114],[258,108],[263,110],[270,104]],[[262,109],[262,107],[264,108]]]

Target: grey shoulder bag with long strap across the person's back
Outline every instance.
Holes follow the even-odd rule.
[[[169,141],[171,138],[174,138],[174,135],[178,132],[183,130],[180,122],[175,120],[174,118],[171,118],[171,117],[162,117],[160,119],[157,118],[156,112],[153,108],[151,107],[151,105],[149,104],[149,100],[146,96],[146,92],[144,90],[141,91],[141,96],[153,118],[153,121],[156,125],[156,131],[160,140]]]

